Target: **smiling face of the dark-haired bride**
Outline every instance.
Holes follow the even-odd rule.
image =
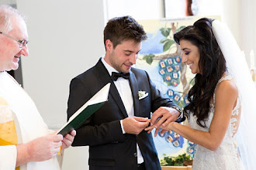
[[[200,73],[199,70],[199,59],[200,53],[199,48],[193,45],[188,40],[182,39],[179,41],[182,49],[182,63],[189,66],[192,73]]]

